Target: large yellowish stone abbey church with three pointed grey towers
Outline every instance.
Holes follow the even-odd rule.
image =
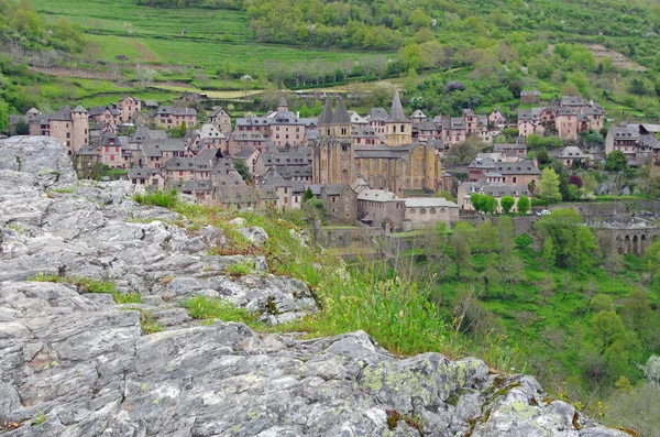
[[[363,178],[372,188],[402,196],[409,190],[437,190],[442,172],[436,146],[410,141],[410,121],[404,116],[398,92],[386,127],[389,145],[354,144],[343,101],[334,111],[326,101],[314,146],[312,182],[349,185]]]

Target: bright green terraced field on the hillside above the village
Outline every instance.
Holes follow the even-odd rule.
[[[338,63],[369,53],[257,44],[249,34],[245,13],[229,10],[154,9],[133,0],[33,0],[41,14],[80,25],[99,47],[99,61],[124,55],[131,64],[194,65],[216,74],[226,63],[239,70],[263,72],[264,59],[283,63]],[[185,32],[184,32],[185,31]],[[255,61],[260,59],[260,61]]]

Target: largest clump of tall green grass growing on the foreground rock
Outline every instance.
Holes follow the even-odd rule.
[[[376,265],[346,270],[342,263],[318,287],[321,310],[286,326],[310,337],[364,330],[385,349],[411,356],[422,351],[459,356],[460,345],[422,284]]]

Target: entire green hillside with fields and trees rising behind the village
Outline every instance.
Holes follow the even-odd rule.
[[[6,98],[18,100],[10,101],[15,111],[101,105],[127,92],[167,101],[183,90],[205,90],[235,99],[260,90],[351,83],[356,84],[351,92],[371,91],[349,102],[364,111],[386,103],[392,92],[367,84],[394,79],[404,85],[409,110],[431,113],[495,106],[515,113],[520,90],[534,88],[544,100],[561,94],[593,98],[616,120],[660,116],[660,13],[652,1],[33,4],[32,10],[21,0],[21,10],[30,11],[41,29],[32,34],[47,37],[28,36],[24,25],[8,20],[10,33],[24,35],[18,53],[11,44],[19,39],[4,39],[14,68],[6,67],[4,74],[26,88],[15,90],[20,98]],[[452,81],[464,89],[448,90]],[[273,100],[257,99],[263,110]],[[315,105],[290,106],[297,110],[302,103]]]

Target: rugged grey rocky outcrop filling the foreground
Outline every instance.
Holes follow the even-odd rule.
[[[191,320],[177,303],[198,295],[271,324],[315,306],[263,258],[209,256],[220,230],[182,228],[130,185],[65,188],[64,167],[58,181],[38,168],[0,170],[0,434],[625,436],[476,359],[397,359],[361,331],[301,340]],[[228,274],[239,263],[253,273]],[[29,281],[37,273],[109,280],[142,303]],[[145,314],[164,330],[147,334]]]

